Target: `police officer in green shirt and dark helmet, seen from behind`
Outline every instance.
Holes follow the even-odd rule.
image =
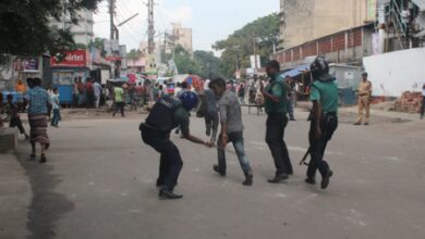
[[[323,56],[317,56],[311,65],[313,85],[309,99],[313,101],[311,127],[308,133],[312,160],[308,164],[307,184],[316,184],[318,169],[321,175],[321,189],[329,185],[332,171],[324,160],[325,149],[338,127],[338,87],[330,76],[328,63]]]

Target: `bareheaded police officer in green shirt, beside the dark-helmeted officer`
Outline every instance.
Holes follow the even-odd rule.
[[[288,175],[293,173],[288,148],[283,141],[284,128],[288,124],[287,96],[289,86],[279,75],[279,62],[270,61],[266,65],[266,72],[270,77],[270,81],[266,88],[262,81],[259,85],[259,90],[265,98],[265,109],[267,113],[266,142],[270,148],[276,166],[275,177],[268,180],[270,184],[287,180]]]

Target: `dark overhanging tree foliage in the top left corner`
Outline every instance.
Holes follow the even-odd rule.
[[[96,10],[100,0],[1,0],[0,51],[37,55],[72,50],[75,45],[69,29],[49,27],[51,18],[64,14],[77,24],[78,10]]]

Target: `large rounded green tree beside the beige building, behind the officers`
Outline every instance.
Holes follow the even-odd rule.
[[[279,16],[272,13],[248,23],[226,40],[217,41],[212,48],[222,51],[221,71],[227,76],[232,76],[236,67],[251,67],[250,55],[254,54],[254,45],[264,64],[272,53],[274,42],[277,42],[278,35]]]

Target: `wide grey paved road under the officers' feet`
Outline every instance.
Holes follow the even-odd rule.
[[[33,191],[28,238],[424,238],[425,122],[341,124],[326,155],[335,176],[323,191],[305,185],[306,168],[298,166],[306,122],[291,123],[286,135],[295,175],[269,185],[265,116],[243,116],[254,186],[241,185],[232,149],[221,178],[211,171],[214,149],[173,135],[184,160],[180,201],[157,199],[158,155],[141,141],[142,116],[62,122],[49,129],[46,165],[27,162],[29,147],[21,143]],[[192,131],[203,136],[201,120]]]

